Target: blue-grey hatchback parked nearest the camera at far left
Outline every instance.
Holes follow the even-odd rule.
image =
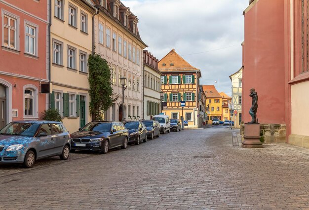
[[[36,160],[59,155],[69,158],[70,134],[61,122],[14,121],[0,131],[0,163],[23,163],[31,168]]]

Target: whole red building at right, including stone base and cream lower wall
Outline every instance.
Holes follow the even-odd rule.
[[[261,140],[309,148],[309,0],[250,0],[244,10],[242,110],[259,96]]]

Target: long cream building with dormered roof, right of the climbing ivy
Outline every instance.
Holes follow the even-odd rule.
[[[101,0],[98,7],[100,12],[94,16],[95,51],[112,68],[115,99],[104,118],[135,120],[133,116],[137,118],[143,112],[143,49],[147,45],[141,40],[138,19],[129,7],[119,0]],[[123,107],[121,77],[127,78]]]

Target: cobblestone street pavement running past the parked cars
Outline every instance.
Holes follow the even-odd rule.
[[[309,150],[233,147],[234,131],[186,129],[30,170],[0,166],[0,209],[309,210]]]

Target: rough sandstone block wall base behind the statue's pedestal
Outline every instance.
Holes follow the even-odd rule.
[[[244,124],[241,124],[241,140],[244,138]],[[260,140],[263,143],[285,143],[286,125],[285,124],[260,124]]]

